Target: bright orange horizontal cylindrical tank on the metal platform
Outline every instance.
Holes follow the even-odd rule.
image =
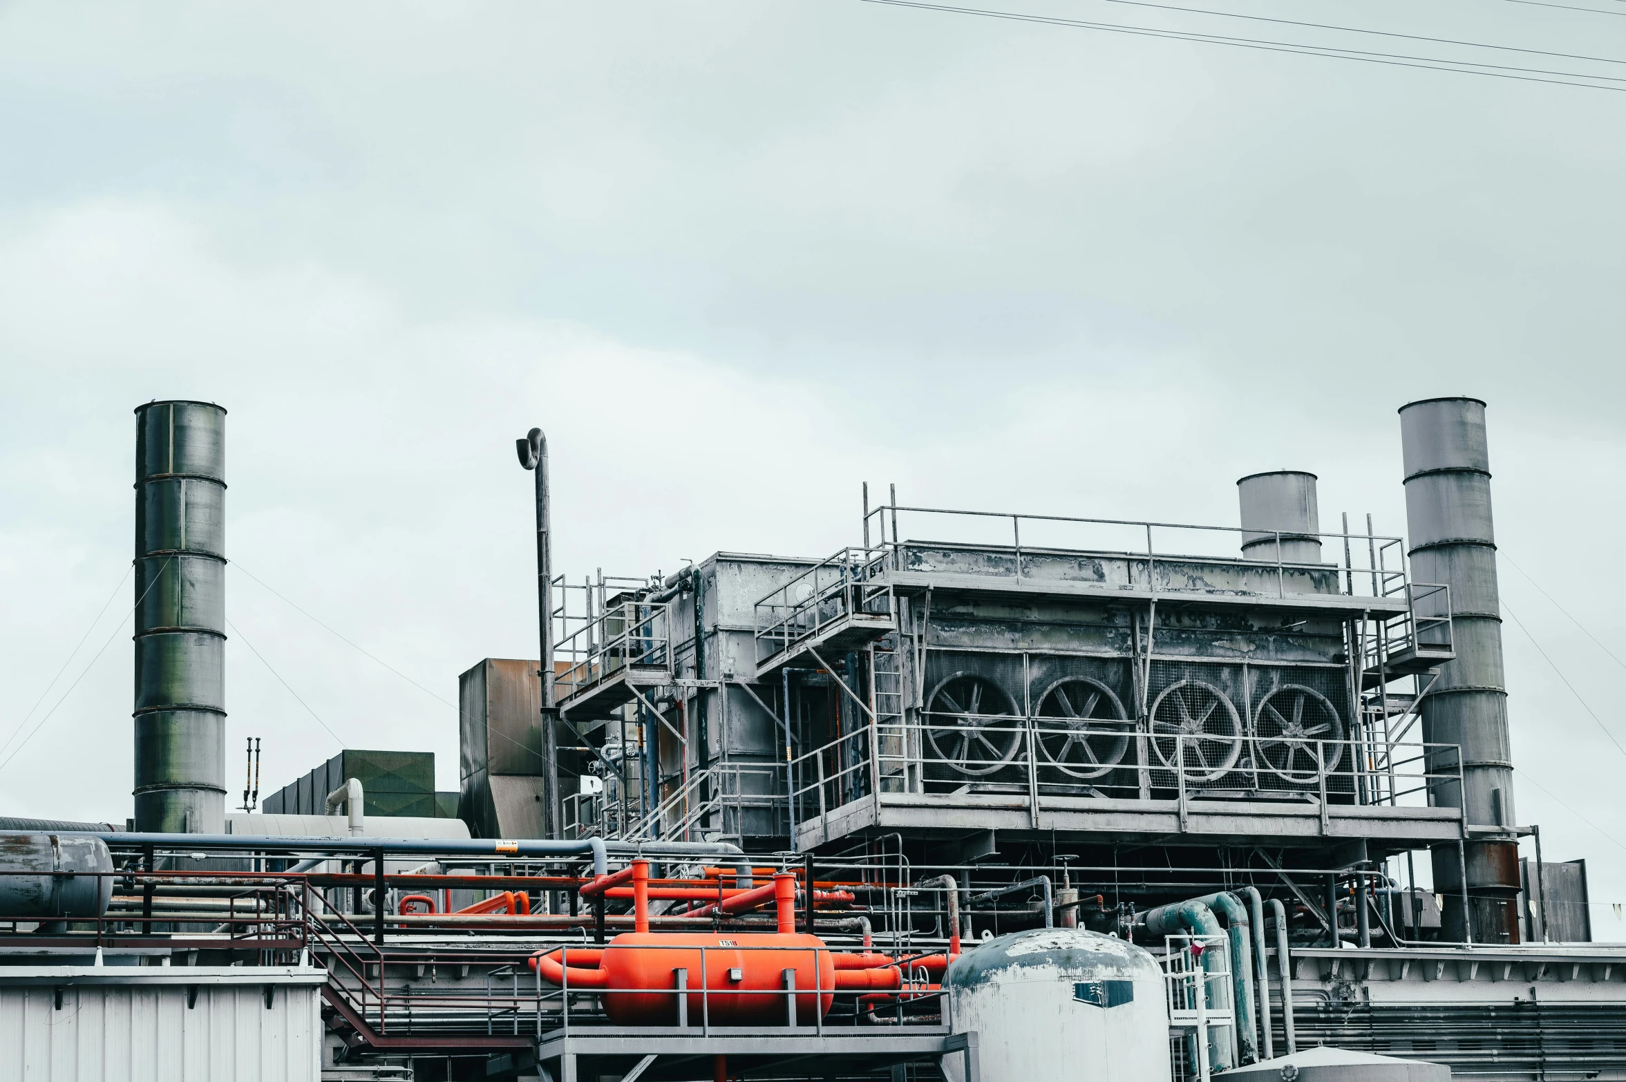
[[[704,963],[701,960],[701,947]],[[785,970],[795,973],[797,1022],[811,1025],[834,1002],[836,952],[818,936],[779,933],[624,933],[605,947],[569,947],[532,959],[543,980],[603,991],[616,1025],[676,1025],[678,970],[685,970],[688,1022],[784,1025]],[[616,989],[672,989],[626,991]],[[706,994],[701,994],[701,989]]]

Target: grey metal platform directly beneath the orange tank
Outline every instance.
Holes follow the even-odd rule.
[[[554,1082],[587,1082],[602,1076],[637,1077],[646,1082],[693,1079],[696,1071],[711,1076],[711,1061],[728,1059],[728,1074],[751,1079],[806,1077],[846,1067],[852,1074],[880,1074],[906,1063],[937,1064],[958,1053],[966,1066],[966,1082],[980,1077],[977,1035],[950,1033],[941,1025],[889,1028],[811,1025],[711,1027],[579,1027],[559,1030],[537,1045],[537,1061]],[[810,1059],[820,1064],[810,1069]],[[698,1061],[706,1061],[699,1067]]]

